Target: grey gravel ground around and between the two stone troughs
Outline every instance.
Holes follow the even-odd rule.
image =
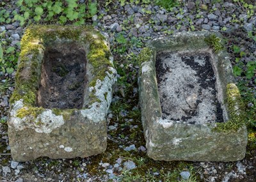
[[[244,0],[246,1],[246,0]],[[6,8],[17,9],[9,1]],[[113,1],[108,7],[100,6],[99,12],[90,22],[108,37],[116,69],[118,84],[108,114],[108,149],[102,155],[88,158],[51,160],[38,158],[32,162],[15,162],[10,155],[6,120],[9,98],[13,91],[15,73],[0,72],[1,84],[6,89],[0,93],[0,176],[1,181],[125,181],[129,171],[141,170],[161,178],[161,174],[179,171],[179,179],[188,179],[194,171],[199,181],[256,181],[256,151],[248,149],[244,160],[239,162],[154,162],[147,158],[143,130],[138,112],[138,86],[136,84],[139,66],[136,56],[149,40],[168,36],[180,31],[220,31],[227,42],[232,64],[255,61],[256,43],[248,38],[248,32],[255,33],[256,15],[247,15],[241,1],[225,3],[218,0],[180,1],[180,6],[166,11],[155,4],[125,4]],[[255,5],[255,1],[246,1]],[[104,3],[103,3],[104,4]],[[108,10],[109,8],[109,10]],[[0,9],[1,10],[1,9]],[[24,32],[18,22],[0,24],[2,40],[17,47]],[[237,63],[237,45],[245,55]],[[237,77],[243,81],[244,75]],[[255,75],[246,86],[256,96]],[[6,84],[4,84],[6,83]],[[252,105],[252,103],[251,103]],[[182,167],[181,167],[182,166]],[[188,168],[193,167],[189,171]],[[177,168],[179,167],[179,169]],[[127,173],[128,171],[128,173]],[[135,174],[134,174],[135,175]],[[145,173],[146,175],[146,173]],[[157,177],[158,176],[158,177]],[[144,179],[144,178],[143,178]],[[177,180],[179,180],[177,179]],[[127,179],[128,180],[128,179]],[[130,180],[131,181],[131,180]],[[142,178],[140,181],[143,181]],[[164,180],[163,180],[164,181]]]

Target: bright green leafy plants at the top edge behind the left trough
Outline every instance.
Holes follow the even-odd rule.
[[[20,7],[20,13],[14,13],[14,19],[19,20],[20,26],[32,21],[54,22],[65,24],[67,22],[75,25],[83,25],[85,19],[93,17],[97,13],[97,1],[87,1],[79,3],[79,1],[65,0],[18,0],[17,6]]]

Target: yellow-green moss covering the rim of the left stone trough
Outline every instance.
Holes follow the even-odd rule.
[[[90,82],[90,86],[95,86],[97,80],[103,80],[109,71],[109,67],[114,65],[109,61],[111,52],[106,45],[106,38],[99,33],[99,31],[93,29],[91,26],[29,26],[20,42],[20,56],[17,73],[15,75],[15,90],[10,98],[11,105],[22,99],[24,107],[17,111],[17,117],[23,118],[28,114],[36,118],[38,114],[45,111],[42,107],[35,107],[36,104],[36,92],[38,88],[38,80],[40,79],[40,63],[38,63],[38,54],[40,50],[45,49],[45,44],[57,39],[75,40],[80,43],[89,43],[89,52],[87,56],[88,63],[93,66],[93,79]],[[28,56],[32,55],[31,58]],[[28,60],[30,59],[30,60]],[[28,62],[31,61],[31,75],[28,79],[22,79],[20,72],[27,68]],[[93,101],[100,102],[99,99],[93,94],[90,94],[90,98]],[[63,119],[67,120],[76,109],[52,109],[52,112],[56,115],[63,115]]]

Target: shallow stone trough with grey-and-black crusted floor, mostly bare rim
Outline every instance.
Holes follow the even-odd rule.
[[[241,98],[227,52],[214,51],[220,43],[218,33],[178,33],[141,51],[141,120],[150,158],[244,158]]]

